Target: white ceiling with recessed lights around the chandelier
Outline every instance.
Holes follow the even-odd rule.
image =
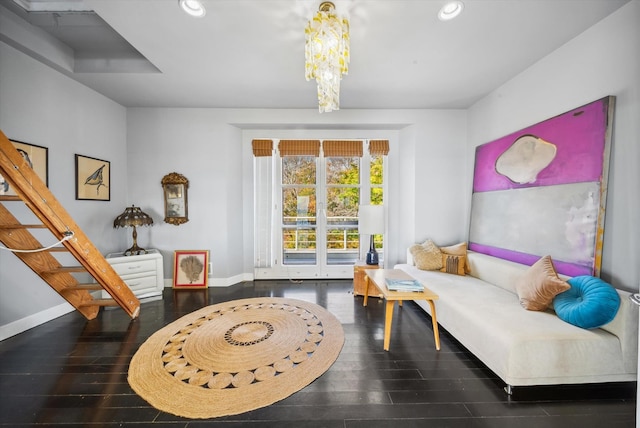
[[[441,22],[445,0],[335,0],[351,23],[341,108],[466,108],[629,0],[463,1],[462,15]],[[5,16],[70,48],[72,66],[57,68],[124,106],[317,108],[315,82],[304,78],[304,27],[320,0],[204,0],[204,18],[178,0],[19,2],[95,11],[27,14],[0,0]]]

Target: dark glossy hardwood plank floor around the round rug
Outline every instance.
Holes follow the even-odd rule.
[[[635,383],[516,388],[502,382],[417,305],[394,313],[382,350],[384,305],[354,297],[352,282],[246,282],[204,291],[166,289],[131,321],[119,309],[86,321],[70,313],[0,342],[0,424],[200,427],[633,427]],[[127,383],[138,346],[203,306],[256,296],[317,303],[343,324],[344,348],[319,379],[290,397],[241,415],[190,420],[160,412]],[[26,298],[26,296],[25,296]],[[178,398],[177,398],[178,399]]]

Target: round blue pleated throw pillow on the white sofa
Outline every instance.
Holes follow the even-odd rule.
[[[553,299],[553,309],[563,321],[582,328],[597,328],[611,322],[620,308],[615,288],[600,278],[576,276],[571,288]]]

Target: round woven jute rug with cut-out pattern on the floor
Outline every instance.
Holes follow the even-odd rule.
[[[282,400],[321,376],[344,344],[340,322],[300,300],[208,306],[155,332],[129,384],[153,407],[187,418],[235,415]]]

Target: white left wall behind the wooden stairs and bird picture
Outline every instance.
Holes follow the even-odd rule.
[[[0,129],[11,139],[47,147],[56,198],[100,251],[122,248],[125,232],[112,228],[127,202],[122,106],[0,42]],[[111,162],[111,201],[75,200],[76,153]],[[5,207],[25,214],[21,202]],[[42,243],[51,240],[48,233],[38,236]],[[73,261],[61,259],[77,265]],[[0,340],[71,309],[17,257],[0,250]]]

